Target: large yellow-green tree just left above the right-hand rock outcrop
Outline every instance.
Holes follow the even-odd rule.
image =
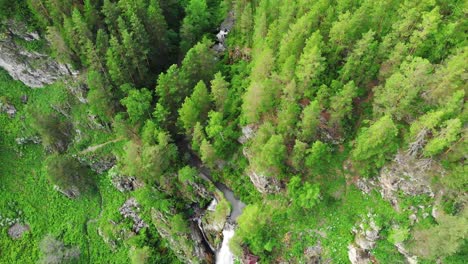
[[[384,165],[388,156],[398,147],[397,135],[398,129],[388,115],[369,128],[362,129],[351,152],[353,160],[361,164],[362,173],[370,175]]]

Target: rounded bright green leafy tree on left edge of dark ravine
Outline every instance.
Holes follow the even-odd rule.
[[[128,96],[120,100],[120,102],[127,108],[130,122],[135,124],[142,120],[145,115],[150,116],[151,100],[151,92],[146,88],[142,88],[140,90],[131,89]]]

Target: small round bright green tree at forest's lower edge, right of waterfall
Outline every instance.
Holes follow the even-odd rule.
[[[318,201],[320,190],[317,185],[302,183],[300,177],[294,176],[288,183],[288,195],[295,206],[311,209]]]

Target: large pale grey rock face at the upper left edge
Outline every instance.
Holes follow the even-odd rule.
[[[17,23],[10,23],[8,34],[4,34],[3,39],[0,39],[0,67],[13,79],[31,88],[39,88],[65,76],[78,74],[47,55],[27,51],[16,45],[13,37],[31,41],[38,39],[39,36],[37,33],[25,33],[25,28]]]

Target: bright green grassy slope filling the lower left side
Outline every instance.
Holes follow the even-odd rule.
[[[98,235],[99,220],[87,225],[88,220],[99,216],[99,194],[88,193],[70,200],[53,190],[43,168],[42,146],[19,146],[15,142],[15,138],[29,132],[21,121],[25,115],[21,95],[29,96],[29,104],[47,104],[48,88],[30,89],[0,71],[0,95],[18,110],[13,119],[0,114],[0,214],[19,217],[31,229],[21,239],[12,240],[7,234],[8,227],[0,227],[0,263],[37,262],[39,243],[47,234],[78,246],[81,263],[128,263],[127,248],[112,252]],[[116,208],[124,199],[105,175],[99,176],[98,188],[105,207],[103,216],[118,212]]]

